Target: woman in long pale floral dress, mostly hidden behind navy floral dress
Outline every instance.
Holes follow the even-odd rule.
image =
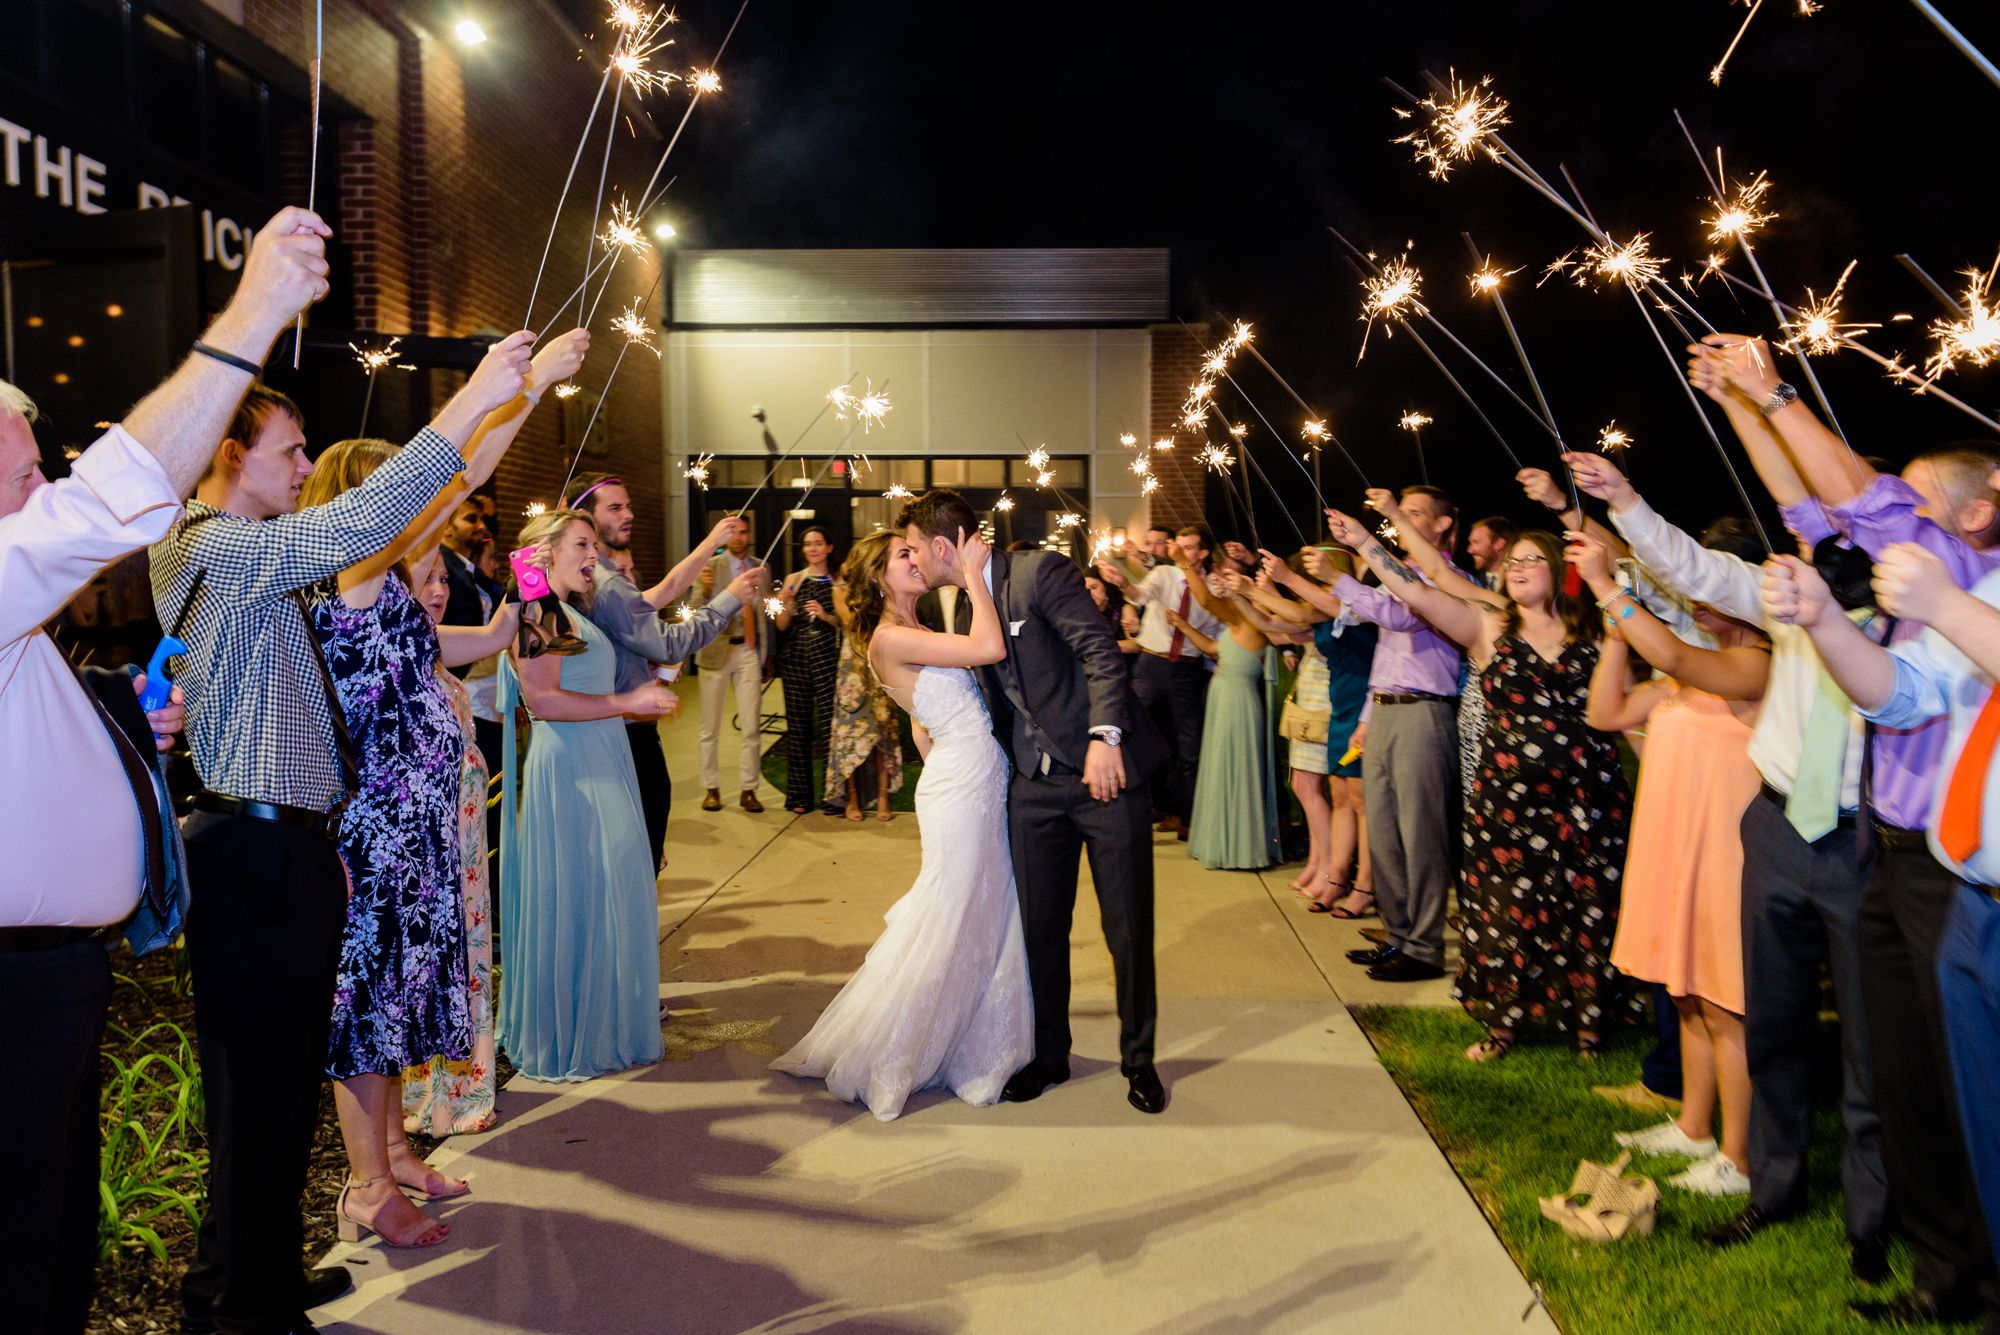
[[[462,903],[466,919],[466,991],[472,1031],[472,1057],[452,1061],[434,1055],[402,1073],[402,1127],[424,1135],[462,1135],[486,1131],[498,1121],[494,1111],[494,935],[492,885],[486,879],[486,757],[474,743],[472,697],[464,683],[446,668],[462,656],[460,628],[444,626],[444,604],[450,600],[450,580],[438,550],[416,558],[410,568],[416,598],[424,606],[444,654],[438,662],[438,685],[452,701],[458,727],[466,737],[464,759],[458,765],[458,861],[462,867]],[[502,604],[512,616],[514,604]],[[482,632],[476,632],[482,634]],[[456,650],[456,652],[454,652]]]

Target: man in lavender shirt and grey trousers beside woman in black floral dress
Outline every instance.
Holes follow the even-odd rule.
[[[1450,502],[1404,496],[1398,524],[1420,528],[1444,552]],[[1342,576],[1332,592],[1352,616],[1382,628],[1362,707],[1362,787],[1376,907],[1388,941],[1348,951],[1348,959],[1368,965],[1368,977],[1384,983],[1444,977],[1444,901],[1458,875],[1452,849],[1462,809],[1458,646],[1390,594],[1352,576]]]

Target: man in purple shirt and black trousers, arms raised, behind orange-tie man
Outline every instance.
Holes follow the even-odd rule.
[[[1786,520],[1816,520],[1808,540],[1838,536],[1870,560],[1898,542],[1932,552],[1960,588],[2000,566],[2000,454],[1946,446],[1918,454],[1902,478],[1878,474],[1826,430],[1798,392],[1778,378],[1770,348],[1712,334],[1690,350],[1690,380],[1724,406],[1752,462],[1782,446],[1816,500]],[[1760,464],[1762,472],[1762,464]],[[1824,518],[1806,512],[1824,510]],[[1834,552],[1834,544],[1818,548]],[[1922,634],[1894,626],[1890,644]],[[1868,1013],[1882,1165],[1890,1201],[1912,1253],[1912,1289],[1886,1303],[1856,1303],[1868,1321],[2000,1321],[2000,1273],[1972,1185],[1958,1123],[1938,997],[1938,943],[1956,899],[1956,879],[1926,841],[1938,765],[1950,719],[1918,727],[1870,725],[1862,771],[1862,855],[1874,845],[1858,915],[1860,985]]]

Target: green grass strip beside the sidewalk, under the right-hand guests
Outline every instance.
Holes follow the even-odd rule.
[[[1668,1187],[1680,1159],[1634,1159],[1628,1171],[1660,1183],[1658,1227],[1594,1247],[1544,1219],[1536,1197],[1562,1193],[1578,1159],[1612,1161],[1612,1131],[1658,1121],[1590,1093],[1590,1085],[1638,1079],[1650,1035],[1622,1033],[1596,1063],[1528,1035],[1504,1061],[1476,1065],[1462,1053],[1480,1027],[1458,1011],[1370,1007],[1356,1019],[1566,1335],[1852,1335],[1864,1327],[1848,1315],[1850,1299],[1908,1285],[1902,1245],[1890,1285],[1868,1289],[1848,1273],[1832,1109],[1814,1119],[1812,1197],[1792,1223],[1740,1247],[1708,1249],[1700,1233],[1738,1213],[1742,1199]]]

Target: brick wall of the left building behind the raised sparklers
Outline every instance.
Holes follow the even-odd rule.
[[[244,0],[244,26],[300,66],[312,60],[312,0]],[[352,248],[356,326],[384,334],[498,334],[520,326],[542,244],[556,212],[564,174],[584,118],[598,92],[602,42],[578,58],[578,38],[536,0],[488,0],[480,24],[492,40],[462,50],[450,26],[456,12],[406,0],[326,0],[324,80],[368,122],[346,122],[322,134],[338,138],[338,204],[320,182],[322,210],[336,240]],[[720,40],[720,32],[704,34]],[[606,98],[606,106],[610,98]],[[648,112],[678,118],[680,94],[646,104],[626,98],[612,140],[606,208],[636,196],[664,148]],[[548,274],[536,298],[538,330],[574,328],[554,310],[582,276],[596,196],[596,164],[604,162],[606,118],[600,114],[590,150],[576,172]],[[684,150],[686,152],[686,146]],[[304,146],[288,146],[284,202],[304,204]],[[674,168],[694,162],[676,154]],[[604,386],[622,340],[610,318],[652,288],[652,254],[624,256],[610,272],[592,320],[594,348],[578,378]],[[592,284],[596,298],[606,274]],[[644,314],[658,326],[658,292]],[[434,404],[462,378],[430,374]],[[582,472],[614,472],[626,480],[638,508],[634,552],[640,574],[658,578],[668,560],[662,492],[660,366],[634,348],[604,404],[610,454],[590,456]],[[570,462],[562,440],[562,410],[544,404],[522,430],[494,476],[502,540],[510,540],[528,502],[554,502]]]

